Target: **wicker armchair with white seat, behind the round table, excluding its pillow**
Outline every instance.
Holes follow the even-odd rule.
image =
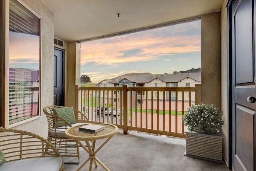
[[[62,157],[77,157],[79,163],[79,145],[73,140],[65,136],[65,131],[74,125],[80,125],[83,123],[90,123],[87,117],[79,110],[74,109],[76,124],[70,125],[67,120],[53,114],[53,107],[63,106],[47,106],[43,111],[46,114],[48,121],[48,141],[51,142],[55,148],[61,153]],[[56,122],[62,122],[62,127],[56,127]],[[64,162],[64,163],[77,163],[77,162]]]

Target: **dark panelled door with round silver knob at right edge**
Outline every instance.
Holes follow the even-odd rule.
[[[234,0],[232,23],[232,168],[255,171],[255,37],[253,0]],[[251,103],[247,101],[247,98]]]

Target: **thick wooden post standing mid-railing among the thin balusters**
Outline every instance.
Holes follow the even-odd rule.
[[[124,134],[128,134],[128,122],[129,122],[129,111],[128,111],[128,84],[123,85],[124,91]]]

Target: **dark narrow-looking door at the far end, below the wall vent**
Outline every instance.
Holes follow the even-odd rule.
[[[64,50],[54,48],[53,104],[64,106]]]

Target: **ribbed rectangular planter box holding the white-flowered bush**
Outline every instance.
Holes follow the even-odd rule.
[[[186,133],[185,156],[208,159],[222,162],[222,138],[221,133],[209,134],[191,132]]]

